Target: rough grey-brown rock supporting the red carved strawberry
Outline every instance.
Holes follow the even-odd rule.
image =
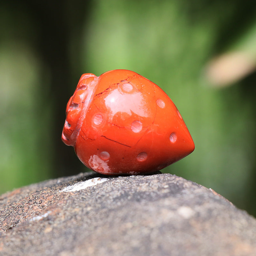
[[[103,177],[0,196],[0,255],[256,255],[256,220],[213,190],[171,174],[93,183]]]

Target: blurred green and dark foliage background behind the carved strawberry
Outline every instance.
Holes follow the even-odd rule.
[[[195,151],[162,170],[256,216],[256,2],[0,4],[0,193],[85,172],[61,141],[83,73],[130,69],[179,109]]]

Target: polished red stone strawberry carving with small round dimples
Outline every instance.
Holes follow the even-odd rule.
[[[195,148],[167,94],[123,69],[81,76],[68,101],[62,140],[88,168],[108,175],[160,170]]]

